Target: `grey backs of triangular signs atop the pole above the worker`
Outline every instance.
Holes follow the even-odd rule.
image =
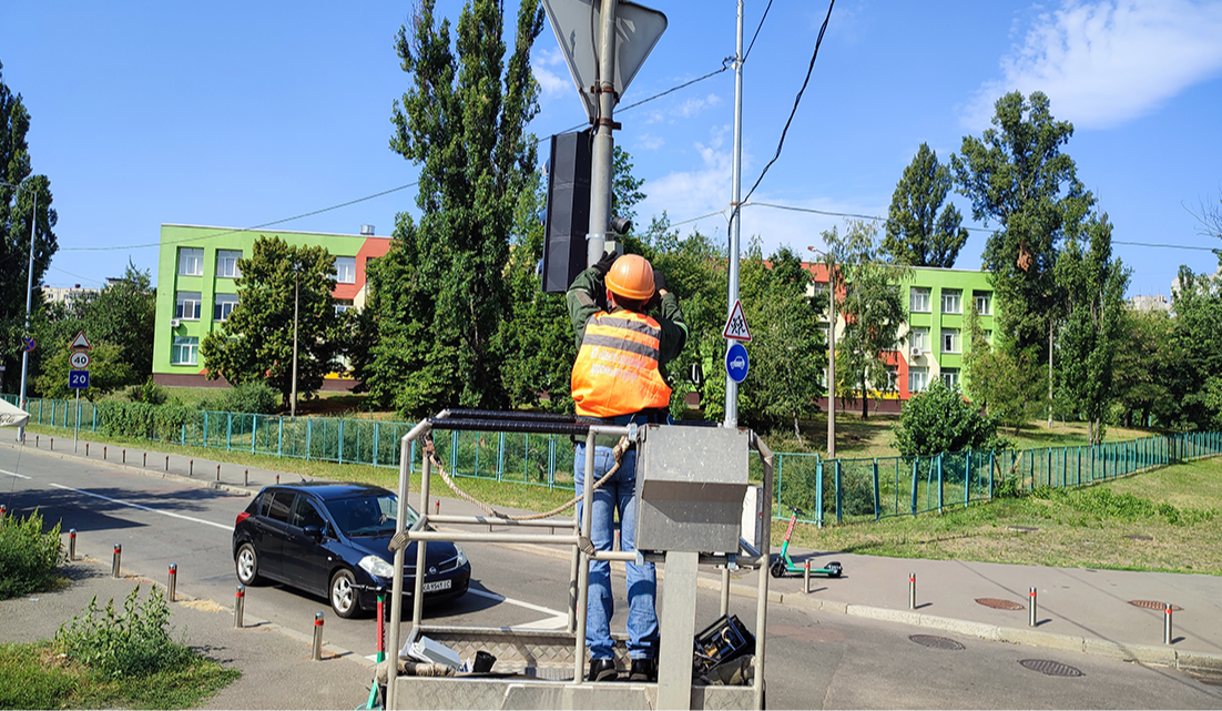
[[[590,121],[599,117],[599,98],[590,89],[599,76],[598,28],[601,22],[599,0],[544,0],[551,29],[568,64],[568,73]],[[628,0],[616,2],[615,11],[615,95],[616,100],[637,76],[637,70],[666,31],[666,16]]]

